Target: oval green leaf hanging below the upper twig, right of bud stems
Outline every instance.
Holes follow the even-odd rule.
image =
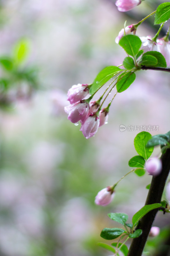
[[[123,92],[128,89],[130,84],[134,82],[135,78],[136,75],[134,72],[128,72],[125,75],[122,75],[116,84],[117,92]]]

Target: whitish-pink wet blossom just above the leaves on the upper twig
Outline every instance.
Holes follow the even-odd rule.
[[[144,50],[144,53],[149,51],[160,52],[160,43],[153,42],[151,36],[141,36],[140,40],[142,41],[141,49]]]

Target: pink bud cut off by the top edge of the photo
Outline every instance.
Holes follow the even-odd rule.
[[[116,6],[120,12],[127,12],[141,4],[142,0],[117,0]]]

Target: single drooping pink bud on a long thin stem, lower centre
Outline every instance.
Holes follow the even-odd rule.
[[[102,206],[105,206],[107,204],[110,204],[110,202],[113,200],[113,197],[115,195],[115,192],[111,189],[111,187],[103,188],[99,191],[97,196],[95,197],[95,204],[99,204]]]

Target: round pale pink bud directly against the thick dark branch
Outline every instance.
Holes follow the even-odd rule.
[[[157,176],[162,170],[162,162],[157,157],[150,158],[145,163],[145,169],[150,175]]]

